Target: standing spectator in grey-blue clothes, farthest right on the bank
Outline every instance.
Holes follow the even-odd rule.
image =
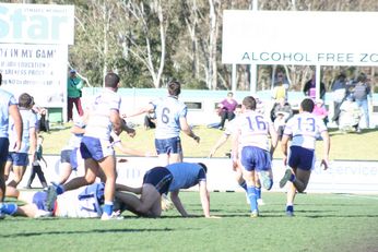
[[[357,77],[357,84],[354,87],[354,98],[359,108],[363,109],[365,115],[365,127],[369,128],[369,108],[367,103],[367,96],[371,98],[370,85],[367,83],[367,77],[364,73],[361,73]]]

